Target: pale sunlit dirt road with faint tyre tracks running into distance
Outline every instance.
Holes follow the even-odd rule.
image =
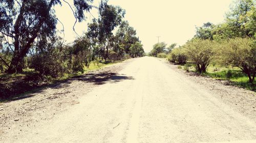
[[[133,60],[91,92],[75,92],[83,95],[78,104],[2,142],[256,142],[255,112],[245,116],[156,58]]]

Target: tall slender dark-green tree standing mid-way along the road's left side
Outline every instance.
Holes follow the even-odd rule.
[[[112,31],[121,24],[124,14],[125,11],[120,7],[101,2],[98,19],[93,19],[93,22],[88,24],[87,36],[93,43],[94,54],[98,54],[105,61],[109,59],[109,50],[114,44]]]

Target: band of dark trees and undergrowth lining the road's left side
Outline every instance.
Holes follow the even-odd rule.
[[[102,0],[99,6],[92,6],[93,1],[74,1],[70,8],[77,22],[85,20],[93,8],[98,10],[98,18],[87,25],[87,32],[68,44],[61,37],[65,37],[65,27],[56,29],[61,21],[54,11],[54,6],[66,1],[1,3],[0,98],[17,94],[5,91],[23,87],[23,82],[33,89],[145,54],[136,30],[123,20],[125,10],[108,5],[108,1]]]

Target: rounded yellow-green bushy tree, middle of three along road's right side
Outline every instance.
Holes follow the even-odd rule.
[[[195,38],[185,44],[185,52],[188,60],[196,64],[196,69],[200,73],[206,72],[210,64],[216,44],[211,40]]]

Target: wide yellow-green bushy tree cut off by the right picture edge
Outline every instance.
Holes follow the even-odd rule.
[[[253,82],[256,73],[256,45],[249,38],[224,41],[217,50],[217,60],[224,66],[239,67]]]

